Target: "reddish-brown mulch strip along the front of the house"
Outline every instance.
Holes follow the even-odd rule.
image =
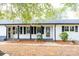
[[[46,42],[51,43],[58,43],[58,44],[69,44],[73,45],[74,43],[72,41],[63,42],[62,40],[56,40],[56,41],[45,41],[45,40],[14,40],[14,41],[8,41],[10,43],[25,43],[25,44],[44,44]]]

